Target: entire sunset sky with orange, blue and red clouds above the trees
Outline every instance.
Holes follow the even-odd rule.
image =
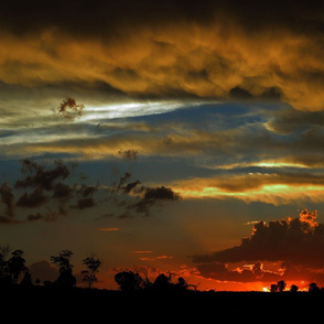
[[[323,33],[321,1],[4,1],[0,246],[105,289],[324,285]]]

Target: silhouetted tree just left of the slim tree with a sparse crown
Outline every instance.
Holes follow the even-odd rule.
[[[52,256],[51,262],[58,267],[60,276],[56,280],[56,284],[58,287],[74,287],[76,285],[76,279],[73,276],[73,266],[71,264],[71,257],[73,256],[73,251],[66,249],[62,250],[58,257]]]

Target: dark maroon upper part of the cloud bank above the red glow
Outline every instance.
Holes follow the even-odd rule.
[[[285,261],[295,266],[324,267],[324,225],[315,220],[316,210],[304,209],[300,217],[259,222],[250,237],[239,246],[205,256],[194,262]]]

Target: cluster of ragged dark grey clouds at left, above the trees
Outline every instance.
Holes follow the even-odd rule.
[[[127,150],[126,159],[133,159],[136,151]],[[130,154],[130,158],[129,158]],[[23,191],[14,202],[11,187],[1,185],[1,202],[6,206],[6,214],[1,216],[1,224],[45,220],[54,222],[66,216],[68,209],[93,208],[98,204],[108,203],[119,217],[133,217],[139,214],[150,214],[150,208],[163,202],[176,201],[180,195],[172,188],[164,186],[147,187],[139,180],[132,181],[131,174],[126,172],[112,186],[105,184],[89,185],[85,183],[71,184],[72,171],[75,163],[64,163],[55,160],[52,165],[41,164],[33,160],[22,161],[21,172],[24,179],[18,180],[14,190]],[[13,218],[13,207],[36,209],[28,214],[25,219]],[[121,215],[121,216],[120,216]]]

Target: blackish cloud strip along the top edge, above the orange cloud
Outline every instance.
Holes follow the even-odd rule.
[[[65,1],[44,3],[10,1],[1,4],[1,25],[24,33],[39,28],[60,26],[75,34],[116,32],[120,25],[154,25],[173,21],[208,23],[215,18],[235,19],[249,31],[273,26],[290,26],[302,31],[301,23],[309,22],[307,30],[322,26],[323,3],[321,1],[256,1],[248,0],[131,0],[82,1],[77,6]],[[83,23],[79,23],[79,22]]]

